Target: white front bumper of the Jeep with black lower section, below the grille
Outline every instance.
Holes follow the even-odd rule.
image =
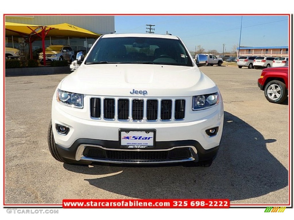
[[[69,109],[70,108],[70,109]],[[73,111],[69,114],[69,111]],[[57,103],[52,105],[54,140],[61,157],[81,162],[107,163],[176,163],[205,161],[215,158],[223,131],[223,102],[212,108],[189,111],[183,121],[124,122],[81,119],[89,114],[87,105],[76,109]],[[76,115],[76,116],[74,116]],[[191,121],[191,118],[200,116]],[[61,135],[56,124],[69,132]],[[218,127],[214,136],[206,130]],[[154,144],[147,148],[126,148],[120,145],[120,130],[154,131]]]

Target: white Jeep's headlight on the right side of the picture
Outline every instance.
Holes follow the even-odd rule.
[[[206,95],[193,96],[193,111],[207,109],[219,102],[218,92]]]

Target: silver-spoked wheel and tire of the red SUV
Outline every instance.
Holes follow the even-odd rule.
[[[264,95],[269,102],[282,103],[288,95],[285,83],[278,80],[268,82],[264,89]]]

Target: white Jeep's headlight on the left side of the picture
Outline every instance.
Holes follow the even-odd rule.
[[[57,90],[57,101],[71,107],[83,108],[83,95],[78,93]]]

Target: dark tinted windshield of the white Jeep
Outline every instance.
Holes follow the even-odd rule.
[[[143,63],[193,66],[180,40],[150,37],[101,38],[85,64]]]

